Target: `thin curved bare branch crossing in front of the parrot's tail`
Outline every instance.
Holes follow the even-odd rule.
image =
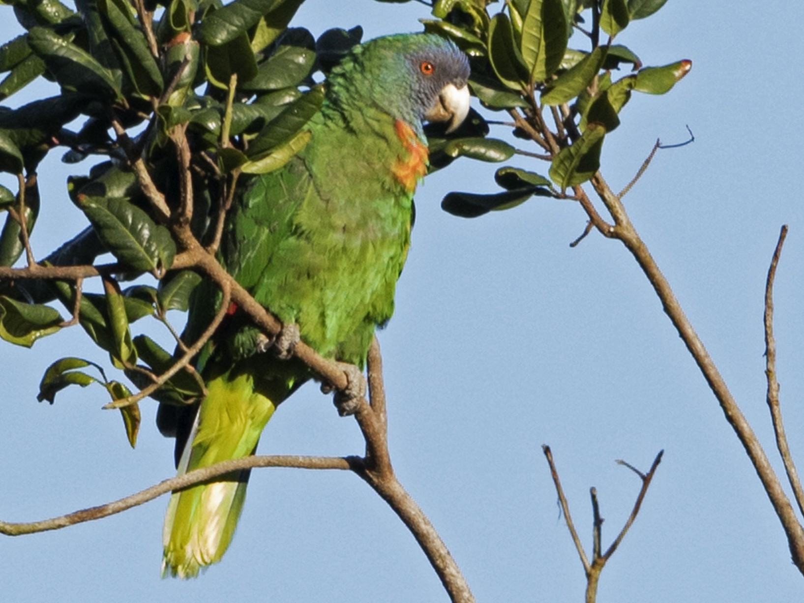
[[[349,457],[301,457],[301,456],[254,456],[241,457],[231,461],[222,461],[188,471],[186,474],[178,475],[159,482],[150,488],[141,490],[125,498],[119,498],[112,503],[89,507],[67,515],[60,515],[52,519],[43,519],[30,523],[11,523],[0,521],[0,534],[18,536],[24,534],[34,534],[40,531],[58,530],[62,527],[72,526],[76,523],[84,523],[93,519],[101,519],[126,511],[132,507],[147,503],[154,498],[167,494],[173,490],[181,490],[189,486],[194,486],[202,482],[207,482],[220,475],[231,473],[232,471],[254,469],[256,467],[293,467],[297,469],[338,469],[350,470],[351,459]]]

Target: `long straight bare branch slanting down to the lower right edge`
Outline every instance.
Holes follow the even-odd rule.
[[[792,504],[790,504],[790,499],[787,498],[779,478],[774,473],[765,450],[762,449],[762,445],[753,432],[751,425],[742,411],[740,411],[740,407],[734,400],[732,393],[729,392],[723,376],[720,375],[720,371],[718,371],[712,357],[704,347],[704,343],[700,340],[691,322],[684,314],[670,283],[658,268],[656,261],[650,255],[646,244],[639,237],[634,225],[631,224],[620,199],[617,199],[617,195],[614,195],[608,184],[605,183],[600,172],[593,176],[592,185],[614,218],[614,227],[611,232],[609,234],[603,232],[603,234],[613,236],[622,241],[634,256],[634,259],[637,260],[659,300],[662,301],[665,313],[679,332],[684,345],[720,403],[720,408],[723,410],[726,420],[734,429],[737,438],[753,463],[754,470],[756,470],[757,476],[765,488],[765,493],[768,494],[770,503],[773,505],[773,510],[776,512],[785,531],[793,562],[798,567],[798,570],[804,573],[804,527],[798,522],[796,512]]]

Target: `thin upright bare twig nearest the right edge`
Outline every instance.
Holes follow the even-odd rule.
[[[773,251],[773,259],[770,261],[768,278],[765,281],[765,377],[768,380],[768,393],[766,400],[770,409],[770,418],[773,422],[773,433],[776,434],[776,447],[779,450],[781,460],[785,464],[787,481],[793,488],[793,493],[798,504],[798,511],[804,515],[804,489],[802,482],[798,478],[793,455],[790,454],[790,446],[787,443],[785,425],[781,419],[781,407],[779,406],[779,382],[776,378],[776,339],[773,337],[773,281],[776,278],[776,267],[781,256],[781,247],[785,244],[787,236],[787,225],[781,227],[779,240],[776,249]]]

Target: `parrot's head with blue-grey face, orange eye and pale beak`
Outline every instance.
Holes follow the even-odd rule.
[[[355,46],[330,73],[330,100],[381,109],[420,136],[425,121],[456,129],[469,113],[469,60],[434,34],[399,34]]]

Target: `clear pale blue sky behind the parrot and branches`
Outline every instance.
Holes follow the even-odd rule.
[[[427,16],[416,2],[333,6],[308,0],[293,24],[318,35],[360,23],[373,37],[416,31],[416,19]],[[10,7],[2,10],[7,39],[16,30]],[[685,125],[695,133],[693,144],[660,151],[625,203],[779,470],[765,407],[762,301],[779,228],[790,224],[776,285],[777,370],[790,445],[802,461],[802,20],[797,2],[737,0],[727,10],[669,0],[632,23],[617,41],[646,65],[691,59],[693,68],[666,96],[635,95],[603,154],[605,178],[618,190],[657,137],[681,142]],[[83,228],[64,183],[89,166],[64,166],[55,155],[41,170],[38,256]],[[546,173],[533,161],[507,165]],[[542,444],[552,446],[588,549],[589,486],[597,486],[607,544],[640,486],[614,459],[647,470],[666,451],[637,522],[605,568],[601,603],[800,600],[802,576],[753,469],[626,249],[595,233],[569,248],[585,215],[568,201],[532,199],[474,220],[441,211],[448,191],[496,190],[496,167],[463,159],[420,188],[396,315],[380,334],[396,472],[478,601],[583,597]],[[173,474],[172,441],[154,429],[155,404],[142,404],[135,450],[118,413],[100,410],[100,388],[37,404],[44,368],[62,355],[105,363],[77,327],[31,351],[0,346],[2,519],[60,515]],[[260,453],[362,449],[354,421],[339,418],[315,385],[281,406],[260,443]],[[159,578],[166,503],[0,539],[2,598],[446,600],[412,536],[354,475],[256,471],[232,547],[190,582]]]

